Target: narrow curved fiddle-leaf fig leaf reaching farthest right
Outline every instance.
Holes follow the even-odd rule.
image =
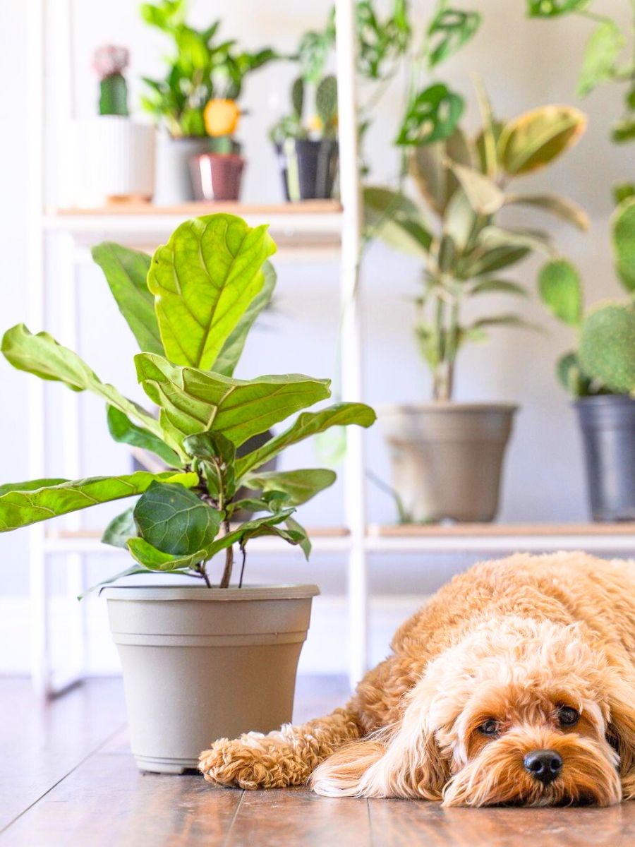
[[[367,428],[374,424],[376,418],[373,409],[364,403],[334,403],[333,406],[322,409],[320,412],[302,412],[295,418],[289,429],[276,435],[264,446],[236,460],[236,481],[241,482],[246,473],[260,468],[269,459],[273,459],[279,452],[292,444],[297,444],[298,441],[324,432],[332,426],[356,424]]]

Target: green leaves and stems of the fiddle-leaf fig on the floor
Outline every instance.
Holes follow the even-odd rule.
[[[308,556],[310,542],[293,517],[295,508],[332,484],[334,472],[259,469],[290,445],[333,426],[367,427],[375,415],[362,403],[303,411],[329,397],[329,379],[301,374],[235,379],[246,336],[272,296],[273,252],[266,226],[252,229],[229,214],[186,221],[152,258],[108,242],[93,248],[141,349],[136,376],[158,407],[158,418],[102,382],[46,332],[31,335],[23,324],[8,329],[2,352],[14,368],[70,390],[91,391],[106,401],[113,439],[151,451],[167,469],[3,485],[0,531],[136,496],[135,505],[103,534],[104,543],[126,548],[134,559],[108,582],[161,572],[212,585],[217,580],[209,562],[223,553],[218,584],[225,588],[235,546],[244,567],[247,543],[260,535],[300,545]],[[295,412],[301,413],[279,435],[237,457],[237,448],[252,435]],[[241,486],[251,490],[250,497],[237,498]],[[232,525],[239,509],[258,517]]]

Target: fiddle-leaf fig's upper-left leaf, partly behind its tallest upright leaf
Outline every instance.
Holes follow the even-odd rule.
[[[139,349],[163,356],[154,297],[147,287],[150,257],[112,241],[102,241],[91,250],[93,261],[102,268],[119,312],[132,330]]]

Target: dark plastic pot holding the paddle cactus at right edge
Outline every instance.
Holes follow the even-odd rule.
[[[599,395],[574,405],[594,521],[635,520],[635,399]]]

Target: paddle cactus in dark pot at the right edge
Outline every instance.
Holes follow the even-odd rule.
[[[577,349],[560,357],[556,373],[575,398],[587,466],[588,499],[596,521],[635,520],[635,197],[611,219],[615,266],[627,291],[621,302],[583,308],[577,269],[546,263],[540,296],[577,333]]]

